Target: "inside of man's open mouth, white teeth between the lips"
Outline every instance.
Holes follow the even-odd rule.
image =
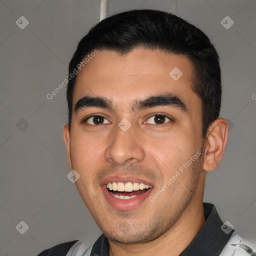
[[[128,200],[139,196],[151,187],[151,185],[138,182],[109,182],[106,184],[108,192],[115,198],[122,200]]]

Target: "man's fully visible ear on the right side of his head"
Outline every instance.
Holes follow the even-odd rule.
[[[203,169],[214,170],[220,163],[226,147],[228,123],[224,118],[217,118],[207,129],[204,148]]]

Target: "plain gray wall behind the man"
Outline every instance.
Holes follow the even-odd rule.
[[[221,116],[228,118],[230,131],[221,164],[206,176],[204,200],[251,241],[256,240],[255,5],[255,0],[110,0],[108,6],[108,16],[129,9],[171,11],[211,38],[222,68]],[[78,41],[98,22],[99,6],[99,0],[0,1],[2,256],[36,255],[68,240],[93,242],[100,234],[66,177],[66,88],[46,98],[66,77]],[[15,23],[22,15],[29,21],[24,29]],[[220,23],[227,15],[234,21],[229,29]],[[29,226],[24,234],[15,228],[21,220]]]

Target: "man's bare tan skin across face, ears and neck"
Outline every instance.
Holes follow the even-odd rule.
[[[169,75],[174,67],[183,73],[176,81]],[[202,105],[191,89],[192,75],[186,57],[144,48],[124,55],[100,50],[77,74],[73,108],[85,95],[107,97],[115,106],[113,111],[73,109],[71,131],[67,124],[63,127],[69,168],[80,174],[77,189],[108,238],[110,255],[178,255],[205,221],[205,171],[216,168],[222,158],[228,124],[216,119],[202,138]],[[165,92],[177,95],[187,111],[176,106],[131,110],[134,100]],[[90,124],[92,118],[82,122],[91,114],[106,119],[100,125]],[[155,122],[155,114],[167,116],[162,125]],[[123,118],[131,124],[125,132],[118,127]],[[146,198],[134,209],[118,210],[103,195],[101,180],[109,175],[148,181],[154,195],[197,151],[201,156],[153,202]]]

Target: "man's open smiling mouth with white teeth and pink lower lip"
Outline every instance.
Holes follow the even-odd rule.
[[[112,181],[113,179],[115,181]],[[107,202],[112,207],[118,210],[131,210],[142,204],[149,196],[153,188],[152,184],[134,179],[119,178],[118,180],[115,177],[100,186]]]

